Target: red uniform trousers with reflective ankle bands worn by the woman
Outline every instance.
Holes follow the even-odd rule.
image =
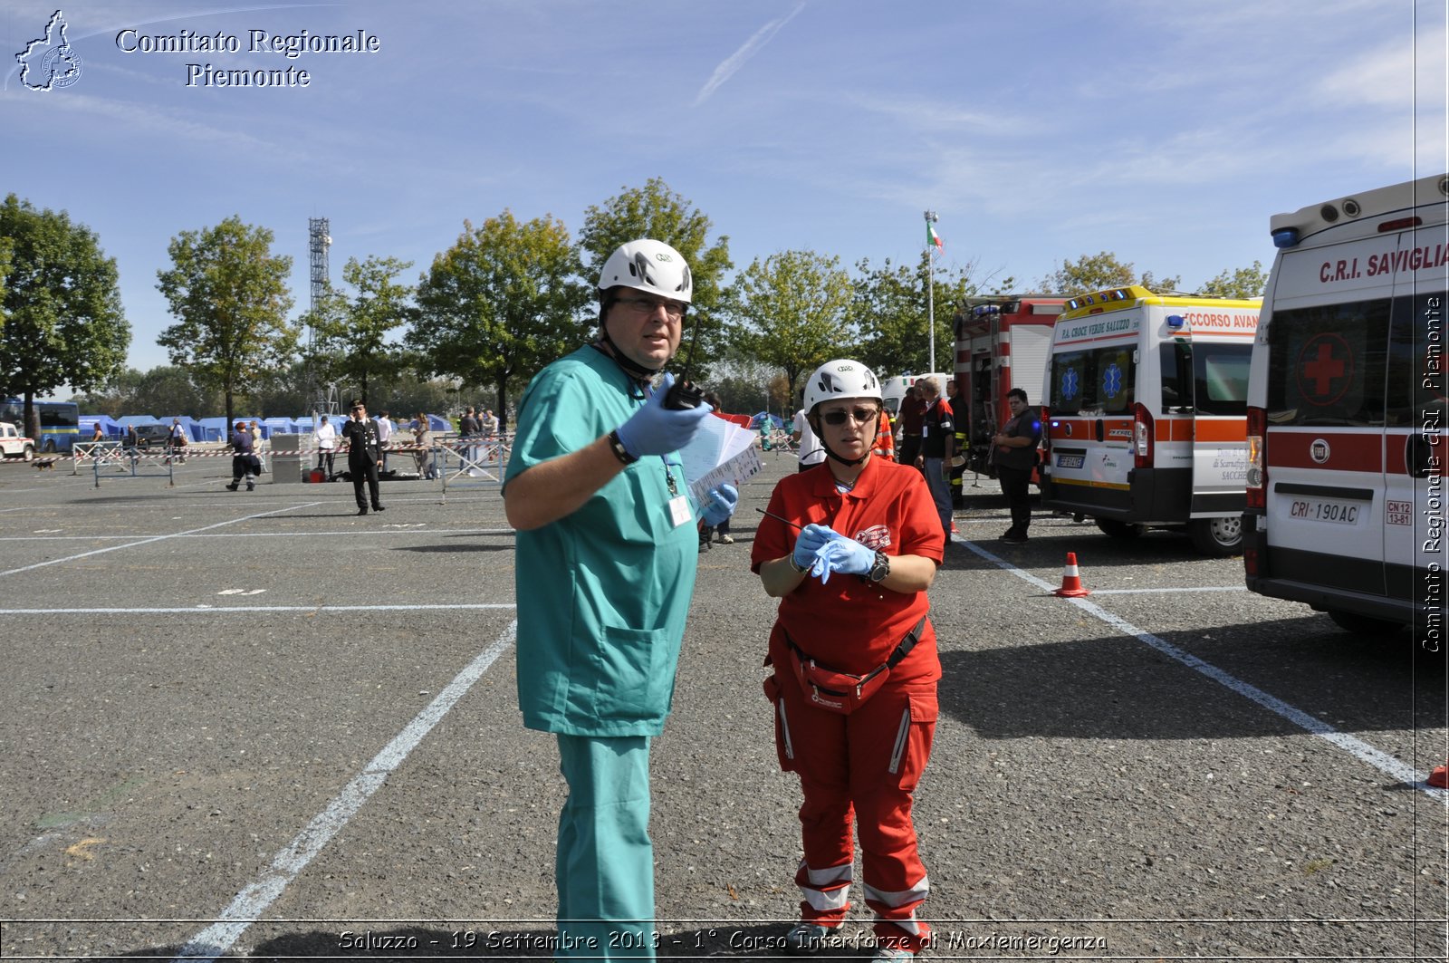
[[[936,734],[936,683],[887,682],[851,715],[811,705],[790,666],[777,666],[765,687],[781,769],[800,773],[804,790],[801,919],[836,927],[851,909],[853,815],[877,940],[919,953],[930,927],[916,919],[916,906],[930,883],[910,808]]]

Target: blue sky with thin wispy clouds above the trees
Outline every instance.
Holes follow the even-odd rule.
[[[167,363],[167,244],[230,215],[293,257],[296,312],[309,218],[333,283],[368,255],[416,280],[464,219],[577,232],[651,177],[738,268],[913,261],[929,207],[942,263],[988,286],[1111,251],[1191,290],[1268,265],[1272,213],[1449,170],[1443,0],[107,0],[62,7],[78,80],[28,90],[13,55],[55,9],[0,12],[0,190],[100,235],[139,368]],[[380,51],[288,59],[254,29]],[[183,30],[241,51],[122,49]],[[187,64],[310,84],[188,87]]]

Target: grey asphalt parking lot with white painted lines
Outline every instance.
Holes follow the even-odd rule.
[[[764,464],[655,743],[661,956],[775,956],[798,901],[748,570],[794,463]],[[343,483],[226,492],[225,458],[68,471],[0,464],[0,954],[546,959],[564,785],[517,712],[497,487],[385,483],[358,518]],[[932,590],[933,959],[1445,957],[1442,657],[1181,535],[1006,521],[966,487]],[[1068,551],[1085,599],[1051,592]]]

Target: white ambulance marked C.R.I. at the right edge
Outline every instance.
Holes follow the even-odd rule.
[[[1449,177],[1271,219],[1248,392],[1248,587],[1445,637]]]

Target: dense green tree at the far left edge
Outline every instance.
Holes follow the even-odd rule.
[[[10,261],[0,312],[0,393],[25,400],[25,431],[35,437],[35,397],[61,384],[85,392],[104,383],[126,361],[130,325],[116,260],[64,210],[36,210],[9,194],[0,204],[0,248]]]

